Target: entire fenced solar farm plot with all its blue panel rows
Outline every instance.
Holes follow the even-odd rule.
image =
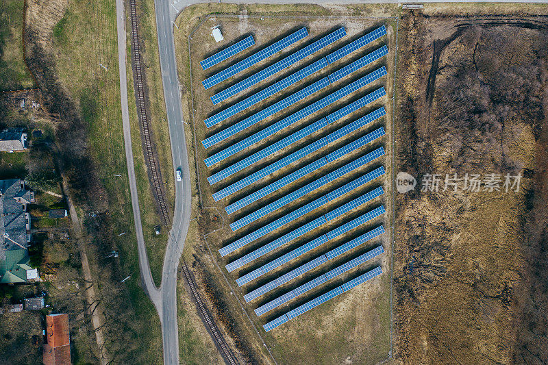
[[[218,16],[192,34],[195,258],[216,263],[212,300],[247,312],[229,331],[281,364],[390,351],[394,49],[386,18]]]

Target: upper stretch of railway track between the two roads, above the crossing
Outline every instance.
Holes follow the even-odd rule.
[[[141,62],[139,47],[139,32],[137,24],[136,0],[129,1],[130,18],[132,21],[132,67],[134,71],[134,89],[136,95],[137,116],[141,129],[142,144],[145,147],[145,162],[149,166],[152,189],[160,208],[160,218],[164,225],[169,224],[169,212],[162,190],[162,178],[158,160],[153,153],[153,147],[150,137],[149,118],[147,116],[147,105],[145,103],[145,88],[143,86],[143,67]]]

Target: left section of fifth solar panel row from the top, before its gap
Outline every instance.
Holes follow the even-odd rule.
[[[209,148],[214,144],[217,144],[231,136],[234,136],[234,134],[237,134],[238,132],[247,129],[252,125],[255,125],[256,123],[259,123],[260,121],[264,121],[264,119],[268,118],[269,116],[272,116],[277,112],[281,112],[282,110],[289,108],[291,105],[302,101],[306,97],[314,94],[314,92],[317,92],[327,86],[329,86],[329,78],[324,77],[323,79],[319,79],[318,81],[314,82],[314,84],[306,86],[306,88],[303,88],[293,93],[292,95],[289,95],[285,99],[282,99],[281,101],[278,101],[277,103],[274,103],[273,105],[270,105],[269,107],[264,108],[259,112],[256,112],[252,116],[249,116],[242,121],[239,121],[231,127],[223,129],[213,136],[206,138],[202,141],[203,147]]]

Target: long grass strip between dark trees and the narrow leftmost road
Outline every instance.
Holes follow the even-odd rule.
[[[53,38],[53,45],[48,50],[54,55],[58,79],[88,125],[88,151],[105,188],[106,195],[102,198],[108,204],[112,224],[111,239],[119,251],[119,277],[131,275],[124,284],[127,291],[120,294],[134,311],[133,316],[139,318],[138,322],[134,322],[138,329],[138,343],[133,348],[138,353],[139,362],[154,363],[162,358],[160,320],[140,286],[131,200],[125,177],[127,169],[117,64],[116,5],[112,0],[98,0],[69,3],[69,8],[65,6],[66,3],[61,1],[32,3],[29,5],[29,17],[34,26],[46,32],[45,37],[49,32]],[[47,44],[45,47],[48,47]],[[99,64],[108,69],[105,70]],[[132,84],[128,86],[132,88]],[[136,125],[136,118],[132,118],[132,121]],[[142,152],[138,129],[135,130],[134,141],[137,143],[134,143],[134,153],[138,157],[142,156]],[[143,187],[148,186],[148,179],[139,161],[136,161],[136,171],[140,176],[141,197],[145,198],[142,201],[146,209],[147,190]],[[152,231],[149,221],[144,220],[143,225]],[[123,232],[126,234],[119,236]],[[94,265],[97,262],[93,260],[99,260],[99,257],[89,256],[91,266],[97,268]],[[101,279],[101,275],[96,274],[97,279]],[[99,286],[108,290],[105,284]]]

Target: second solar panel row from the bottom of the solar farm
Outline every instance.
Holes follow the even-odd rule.
[[[271,310],[274,310],[280,305],[283,305],[287,303],[288,301],[291,301],[292,299],[299,297],[301,294],[304,294],[314,288],[317,288],[318,286],[321,286],[321,284],[326,283],[327,281],[333,279],[334,277],[337,277],[338,275],[342,275],[343,273],[346,273],[352,268],[356,268],[360,264],[363,264],[364,262],[367,262],[382,253],[384,253],[384,249],[382,246],[375,247],[375,249],[372,249],[371,251],[366,252],[363,255],[356,257],[355,259],[350,260],[349,262],[345,262],[345,264],[342,264],[334,268],[333,270],[329,270],[327,271],[327,273],[322,274],[319,277],[316,277],[315,279],[307,281],[305,284],[299,286],[298,288],[295,288],[291,290],[290,292],[280,297],[277,297],[276,299],[273,299],[272,301],[269,301],[268,303],[264,303],[263,305],[261,305],[255,310],[255,314],[257,314],[257,316],[262,316],[263,314],[268,313]],[[325,255],[322,255],[322,256],[325,256]]]

